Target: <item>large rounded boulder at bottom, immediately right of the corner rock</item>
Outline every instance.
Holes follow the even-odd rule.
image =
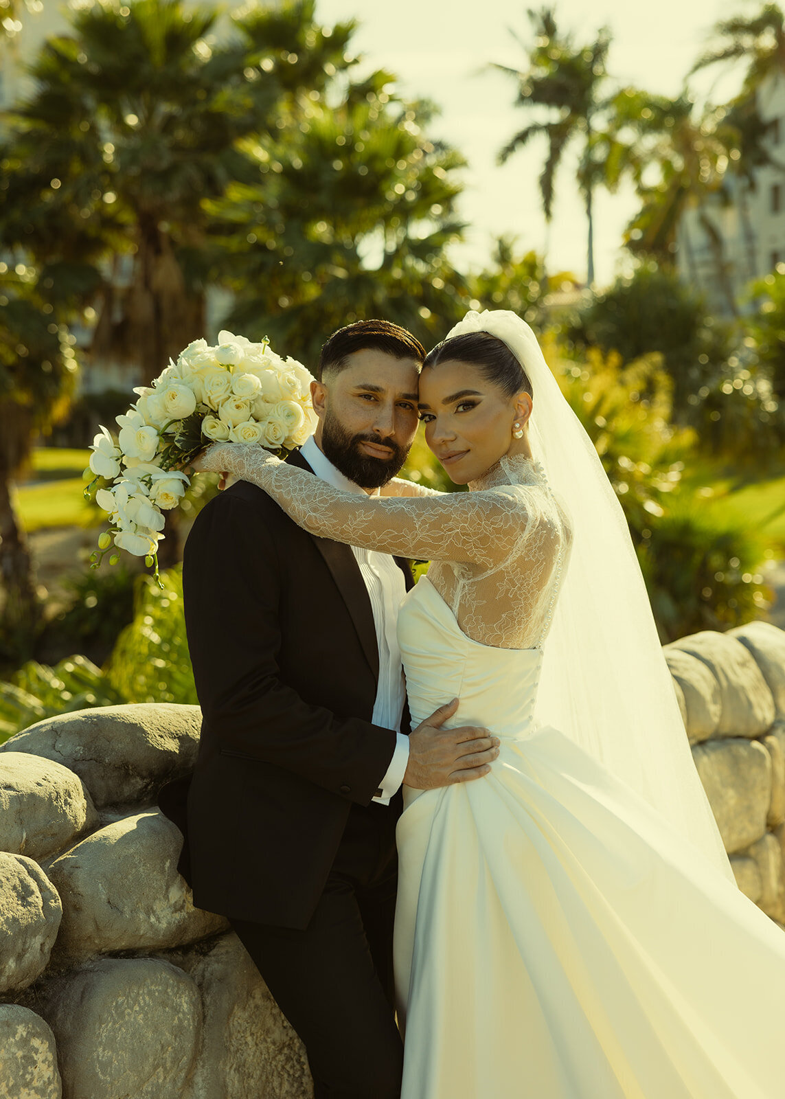
[[[181,969],[101,958],[52,978],[41,1002],[64,1099],[191,1099],[201,1001]]]

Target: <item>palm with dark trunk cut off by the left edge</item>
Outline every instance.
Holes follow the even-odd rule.
[[[0,264],[0,587],[4,596],[0,658],[26,658],[40,604],[24,528],[14,510],[12,482],[34,434],[46,432],[68,409],[76,357],[68,330],[35,288],[36,273]]]

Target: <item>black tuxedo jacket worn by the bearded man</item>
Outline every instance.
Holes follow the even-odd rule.
[[[239,481],[197,518],[183,587],[201,740],[194,775],[158,799],[185,835],[180,873],[198,908],[305,928],[396,745],[371,721],[378,647],[360,568]],[[394,828],[400,796],[379,811]]]

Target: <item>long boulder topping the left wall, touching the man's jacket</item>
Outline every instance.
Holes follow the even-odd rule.
[[[192,768],[200,729],[198,706],[107,706],[40,721],[0,753],[13,744],[69,767],[100,809],[152,802],[164,782]]]

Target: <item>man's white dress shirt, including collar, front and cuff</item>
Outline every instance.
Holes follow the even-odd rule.
[[[312,435],[300,447],[300,454],[317,477],[328,485],[344,489],[346,492],[367,495],[365,489],[335,468],[319,449]],[[378,489],[373,495],[378,496]],[[397,734],[393,759],[387,774],[379,782],[382,792],[373,799],[386,806],[389,804],[393,795],[400,789],[409,762],[409,737],[400,732],[400,719],[406,702],[406,681],[397,634],[398,610],[406,595],[406,582],[403,574],[389,554],[377,553],[375,550],[361,550],[357,546],[352,546],[352,553],[368,591],[379,647],[379,680],[372,721],[375,725],[395,729]]]

